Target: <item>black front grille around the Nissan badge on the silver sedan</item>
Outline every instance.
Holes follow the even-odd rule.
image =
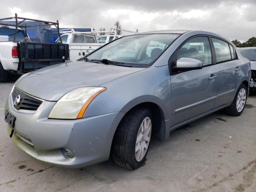
[[[17,103],[15,102],[15,98],[18,96],[20,96],[20,99]],[[36,111],[43,102],[42,100],[25,94],[24,92],[18,90],[16,87],[14,87],[14,90],[12,91],[12,99],[14,102],[14,108],[16,108],[17,110],[24,109]]]

